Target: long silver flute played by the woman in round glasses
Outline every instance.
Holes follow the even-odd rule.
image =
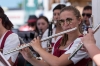
[[[66,31],[63,31],[63,32],[60,32],[60,33],[57,33],[57,34],[54,34],[54,35],[49,36],[49,37],[47,37],[47,38],[43,38],[43,39],[41,39],[40,41],[41,41],[41,42],[42,42],[42,41],[46,41],[46,40],[48,40],[48,39],[50,39],[50,38],[53,38],[53,37],[62,35],[62,34],[64,34],[64,33],[68,33],[68,32],[74,31],[74,30],[76,30],[76,29],[77,29],[77,27],[72,28],[72,29],[69,29],[69,30],[66,30]],[[13,52],[15,52],[15,51],[21,50],[21,49],[23,49],[23,48],[29,47],[30,44],[31,44],[31,43],[27,43],[27,44],[21,45],[21,46],[19,46],[19,47],[16,47],[15,49],[4,53],[4,55],[7,55],[7,54],[13,53]]]

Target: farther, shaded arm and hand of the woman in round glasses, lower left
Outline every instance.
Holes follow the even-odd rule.
[[[33,57],[33,54],[31,53],[29,48],[24,48],[20,51],[24,59],[26,59],[28,62],[30,62],[34,66],[49,66],[46,62],[43,60],[37,60]]]

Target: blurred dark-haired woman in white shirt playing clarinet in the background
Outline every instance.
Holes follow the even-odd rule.
[[[37,28],[39,30],[39,36],[41,39],[48,37],[48,27],[49,27],[49,21],[48,18],[45,16],[40,16],[37,19]],[[46,49],[47,48],[47,42],[48,41],[44,41],[41,42],[42,48]]]

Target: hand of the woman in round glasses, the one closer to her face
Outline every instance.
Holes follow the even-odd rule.
[[[33,49],[34,49],[35,51],[38,51],[40,48],[42,48],[39,37],[34,38],[34,39],[31,41],[31,44],[30,44],[30,45],[33,47]]]

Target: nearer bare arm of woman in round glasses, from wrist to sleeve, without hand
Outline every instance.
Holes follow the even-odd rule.
[[[70,54],[63,54],[62,56],[60,56],[58,58],[58,57],[44,51],[42,48],[39,49],[39,51],[37,51],[37,52],[51,66],[64,66],[64,65],[69,65],[72,63],[71,60],[68,60],[68,57],[70,56]]]

